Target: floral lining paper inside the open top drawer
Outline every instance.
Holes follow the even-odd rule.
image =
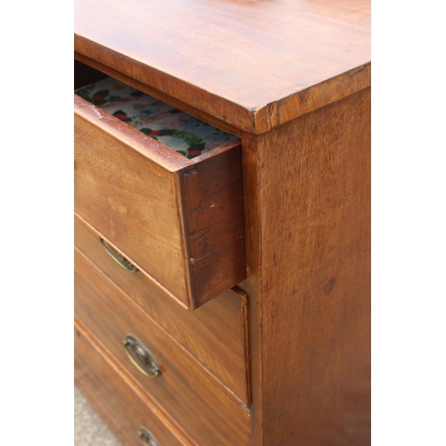
[[[114,78],[79,88],[76,93],[187,158],[237,138]]]

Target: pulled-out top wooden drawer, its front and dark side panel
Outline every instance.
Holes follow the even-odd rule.
[[[246,276],[239,141],[187,160],[75,95],[75,209],[189,310]]]

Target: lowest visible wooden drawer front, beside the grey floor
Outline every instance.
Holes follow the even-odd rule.
[[[138,434],[142,427],[152,433],[159,446],[195,444],[78,321],[74,340],[75,383],[124,446],[143,444]]]

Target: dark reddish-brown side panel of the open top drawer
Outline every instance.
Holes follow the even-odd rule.
[[[246,277],[242,148],[223,147],[180,172],[197,307]]]

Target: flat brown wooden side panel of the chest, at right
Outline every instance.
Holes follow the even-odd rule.
[[[243,147],[252,444],[368,445],[370,89]]]

